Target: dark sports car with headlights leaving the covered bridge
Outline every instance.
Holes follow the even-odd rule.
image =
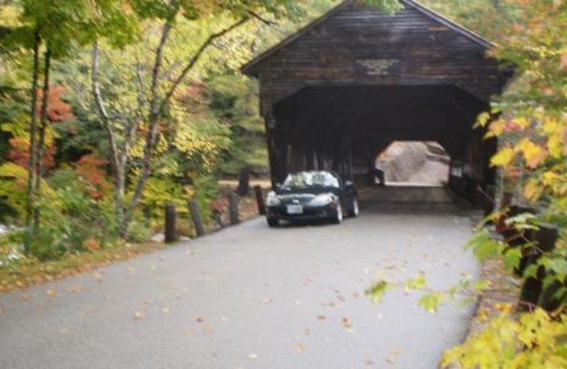
[[[340,180],[332,172],[297,172],[288,175],[283,184],[266,199],[268,224],[280,220],[312,221],[329,219],[339,224],[343,214],[359,215],[357,189],[352,182]]]

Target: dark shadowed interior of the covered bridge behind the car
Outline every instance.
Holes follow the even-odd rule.
[[[466,196],[471,185],[494,182],[495,142],[473,129],[487,109],[451,85],[304,87],[274,105],[272,175],[281,181],[296,170],[335,170],[361,187],[394,141],[436,141],[451,158],[449,185]]]

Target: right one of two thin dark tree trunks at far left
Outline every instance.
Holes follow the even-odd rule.
[[[50,75],[50,64],[51,64],[51,50],[47,46],[45,50],[45,66],[44,66],[44,80],[43,80],[43,101],[41,103],[41,119],[40,119],[40,132],[38,141],[38,157],[35,161],[37,165],[37,175],[35,176],[35,195],[40,196],[41,194],[41,180],[43,177],[44,165],[43,157],[45,156],[45,131],[47,130],[49,111],[49,75]],[[33,224],[35,227],[40,226],[40,209],[35,206],[33,211]]]

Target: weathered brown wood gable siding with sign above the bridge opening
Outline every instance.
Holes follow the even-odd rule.
[[[264,116],[310,84],[451,84],[487,100],[506,77],[486,49],[412,6],[347,4],[246,72],[259,77]]]

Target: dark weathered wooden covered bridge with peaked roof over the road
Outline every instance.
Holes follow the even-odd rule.
[[[492,45],[412,0],[383,13],[348,0],[242,67],[259,79],[272,184],[293,170],[368,182],[393,141],[437,141],[466,195],[495,180],[495,141],[473,129],[510,70]]]

